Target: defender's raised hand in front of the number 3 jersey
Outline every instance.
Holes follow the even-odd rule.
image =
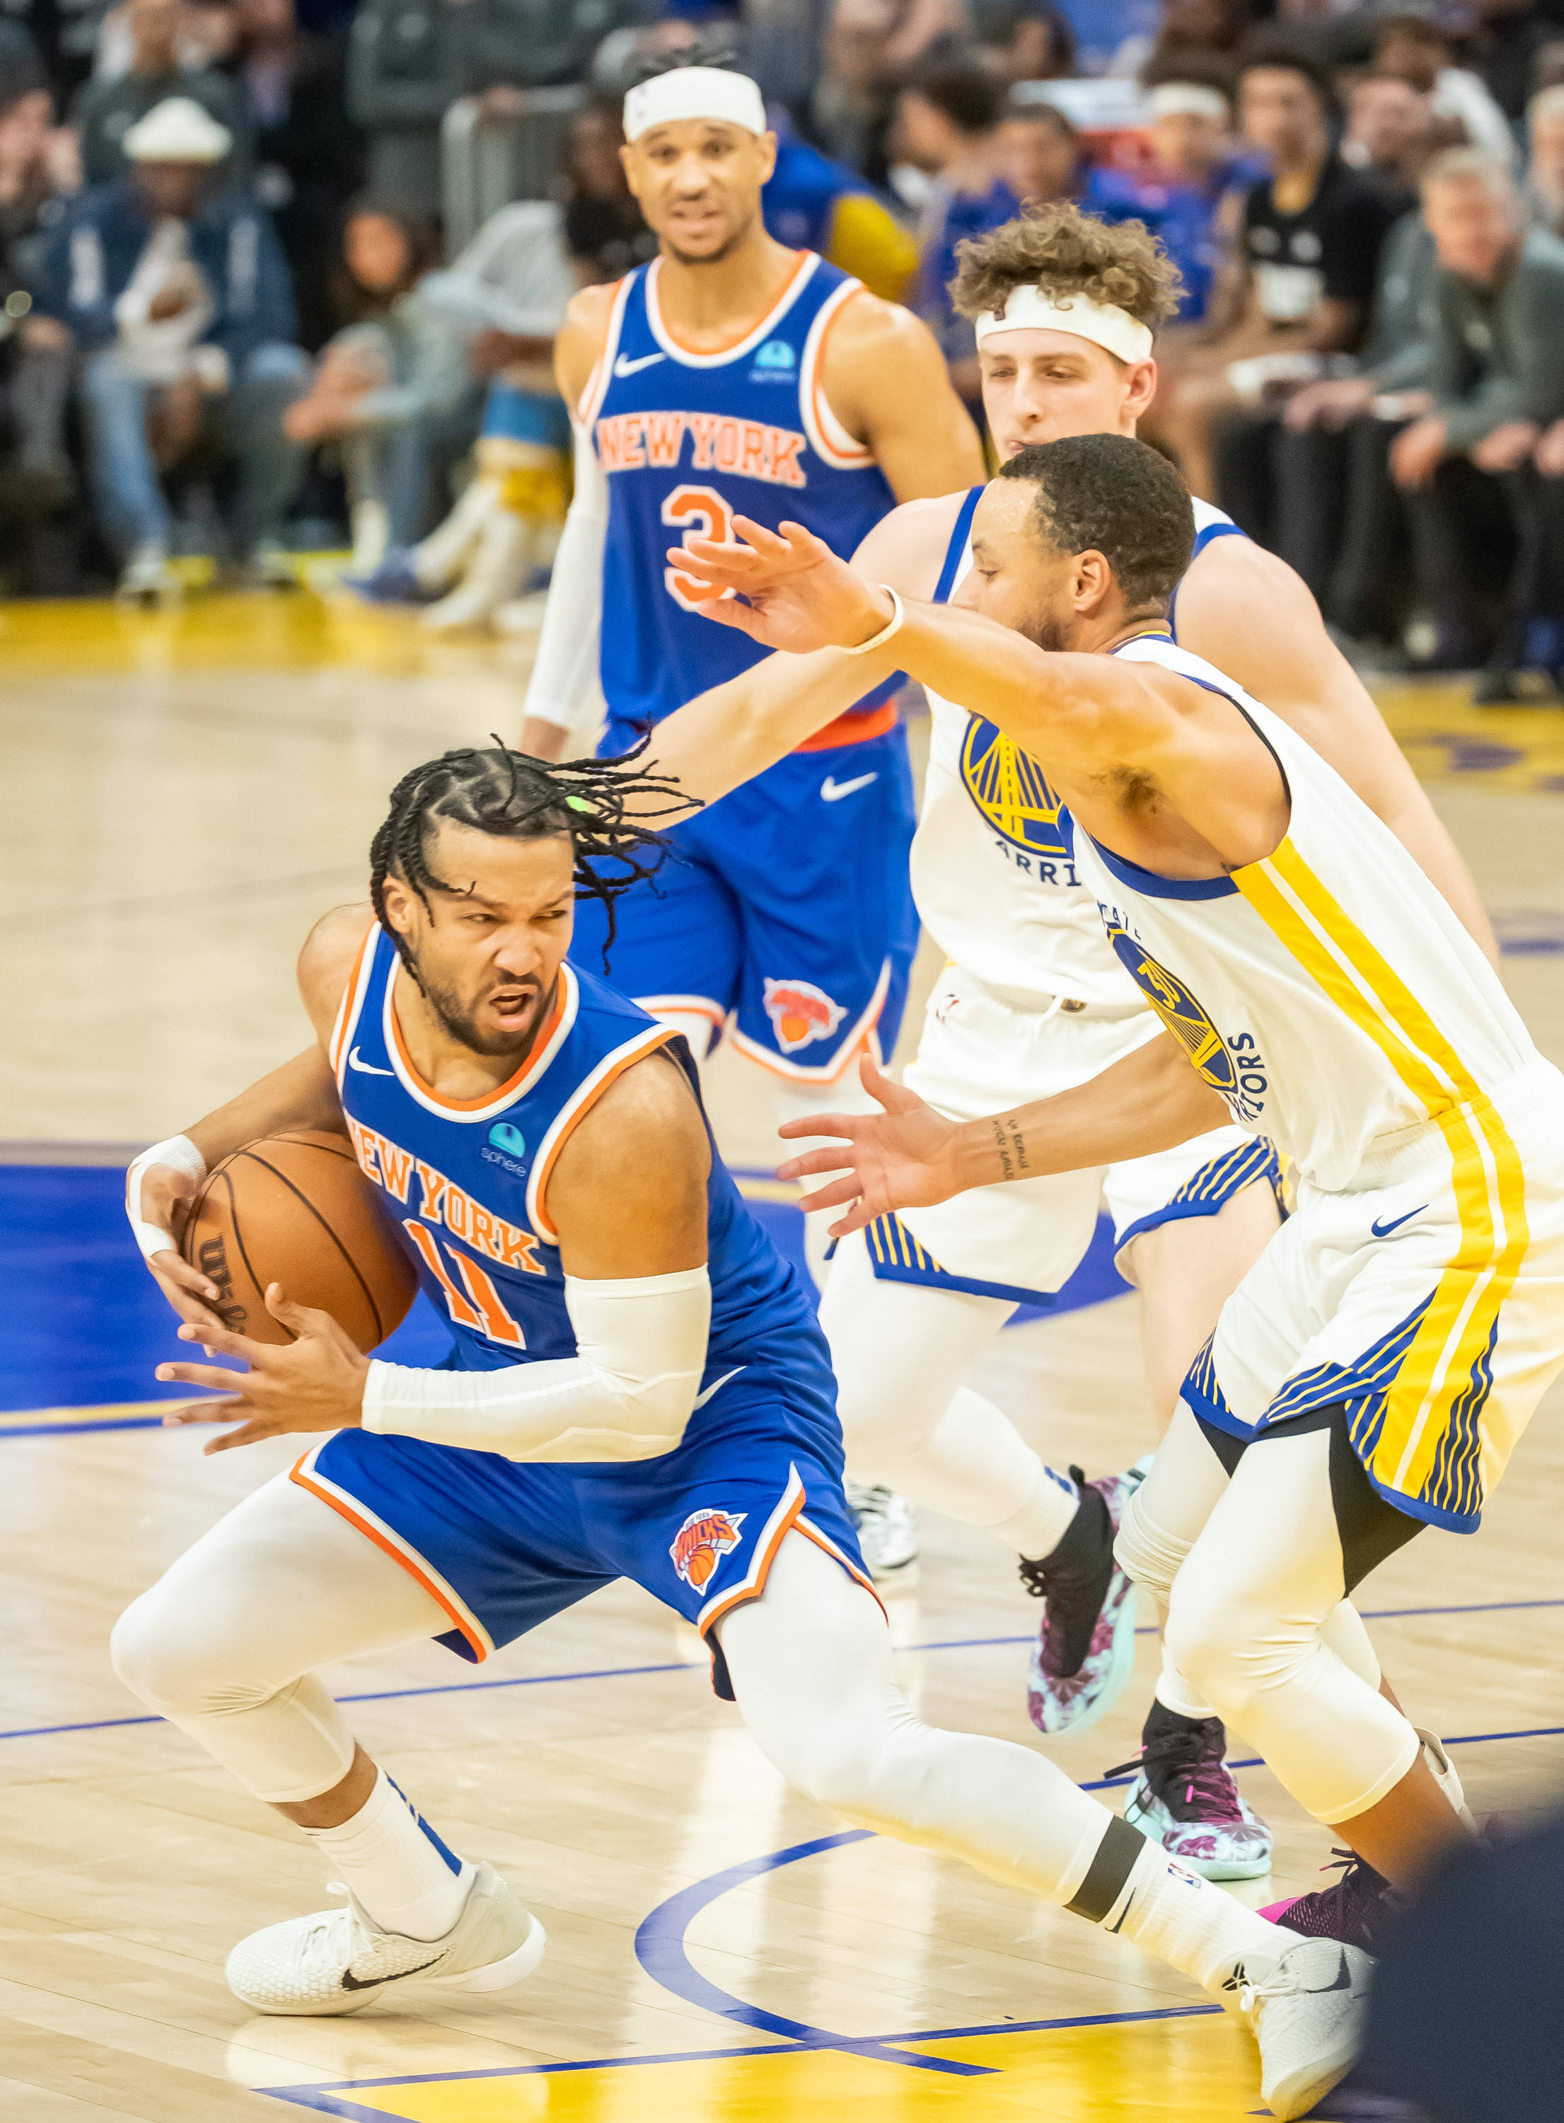
[[[794,654],[851,650],[889,624],[893,607],[885,590],[855,575],[802,524],[766,531],[734,516],[732,527],[743,546],[694,537],[668,548],[673,567],[709,588],[711,599],[700,605],[705,618]],[[726,590],[749,603],[736,603]]]

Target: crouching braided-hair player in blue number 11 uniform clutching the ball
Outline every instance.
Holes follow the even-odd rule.
[[[410,773],[371,904],[303,947],[316,1045],[132,1168],[183,1337],[248,1365],[161,1365],[233,1393],[170,1420],[242,1418],[216,1448],[327,1433],[115,1630],[127,1686],[350,1892],[242,1940],[231,1989],[329,2015],[537,1966],[516,1889],[420,1819],[316,1669],[422,1637],[484,1658],[635,1577],[702,1630],[717,1692],[789,1781],[1159,1953],[1254,2030],[1273,2112],[1303,2115],[1348,2068],[1367,1957],[1280,1932],[1040,1754],[936,1732],[898,1692],[802,1284],[715,1157],[683,1040],[567,960],[575,892],[611,902],[605,879],[651,860],[624,824],[639,794],[632,766],[503,749]],[[367,1361],[278,1284],[291,1344],[210,1310],[178,1204],[240,1142],[295,1127],[348,1132],[450,1316],[444,1367]]]

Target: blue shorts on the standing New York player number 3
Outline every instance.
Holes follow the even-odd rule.
[[[609,726],[603,754],[637,741]],[[830,1083],[866,1034],[889,1057],[917,953],[906,732],[794,752],[677,824],[656,881],[618,902],[609,979],[647,1011],[730,1025],[783,1076]],[[571,957],[601,968],[607,917],[575,911]]]

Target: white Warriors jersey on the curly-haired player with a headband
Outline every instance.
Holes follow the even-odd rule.
[[[934,603],[972,567],[972,512],[961,503]],[[1195,552],[1237,533],[1231,516],[1195,503]],[[929,769],[913,841],[913,898],[938,947],[1010,1002],[1055,996],[1140,1002],[1104,943],[1097,902],[1076,873],[1070,817],[1036,760],[983,715],[929,694]]]

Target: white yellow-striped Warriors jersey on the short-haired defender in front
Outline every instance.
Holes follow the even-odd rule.
[[[1498,1155],[1488,1098],[1539,1062],[1494,968],[1390,828],[1280,715],[1165,635],[1116,654],[1233,701],[1292,802],[1273,856],[1212,879],[1157,877],[1074,822],[1076,870],[1118,964],[1233,1119],[1316,1187],[1373,1183],[1430,1123],[1475,1174],[1483,1140]]]

